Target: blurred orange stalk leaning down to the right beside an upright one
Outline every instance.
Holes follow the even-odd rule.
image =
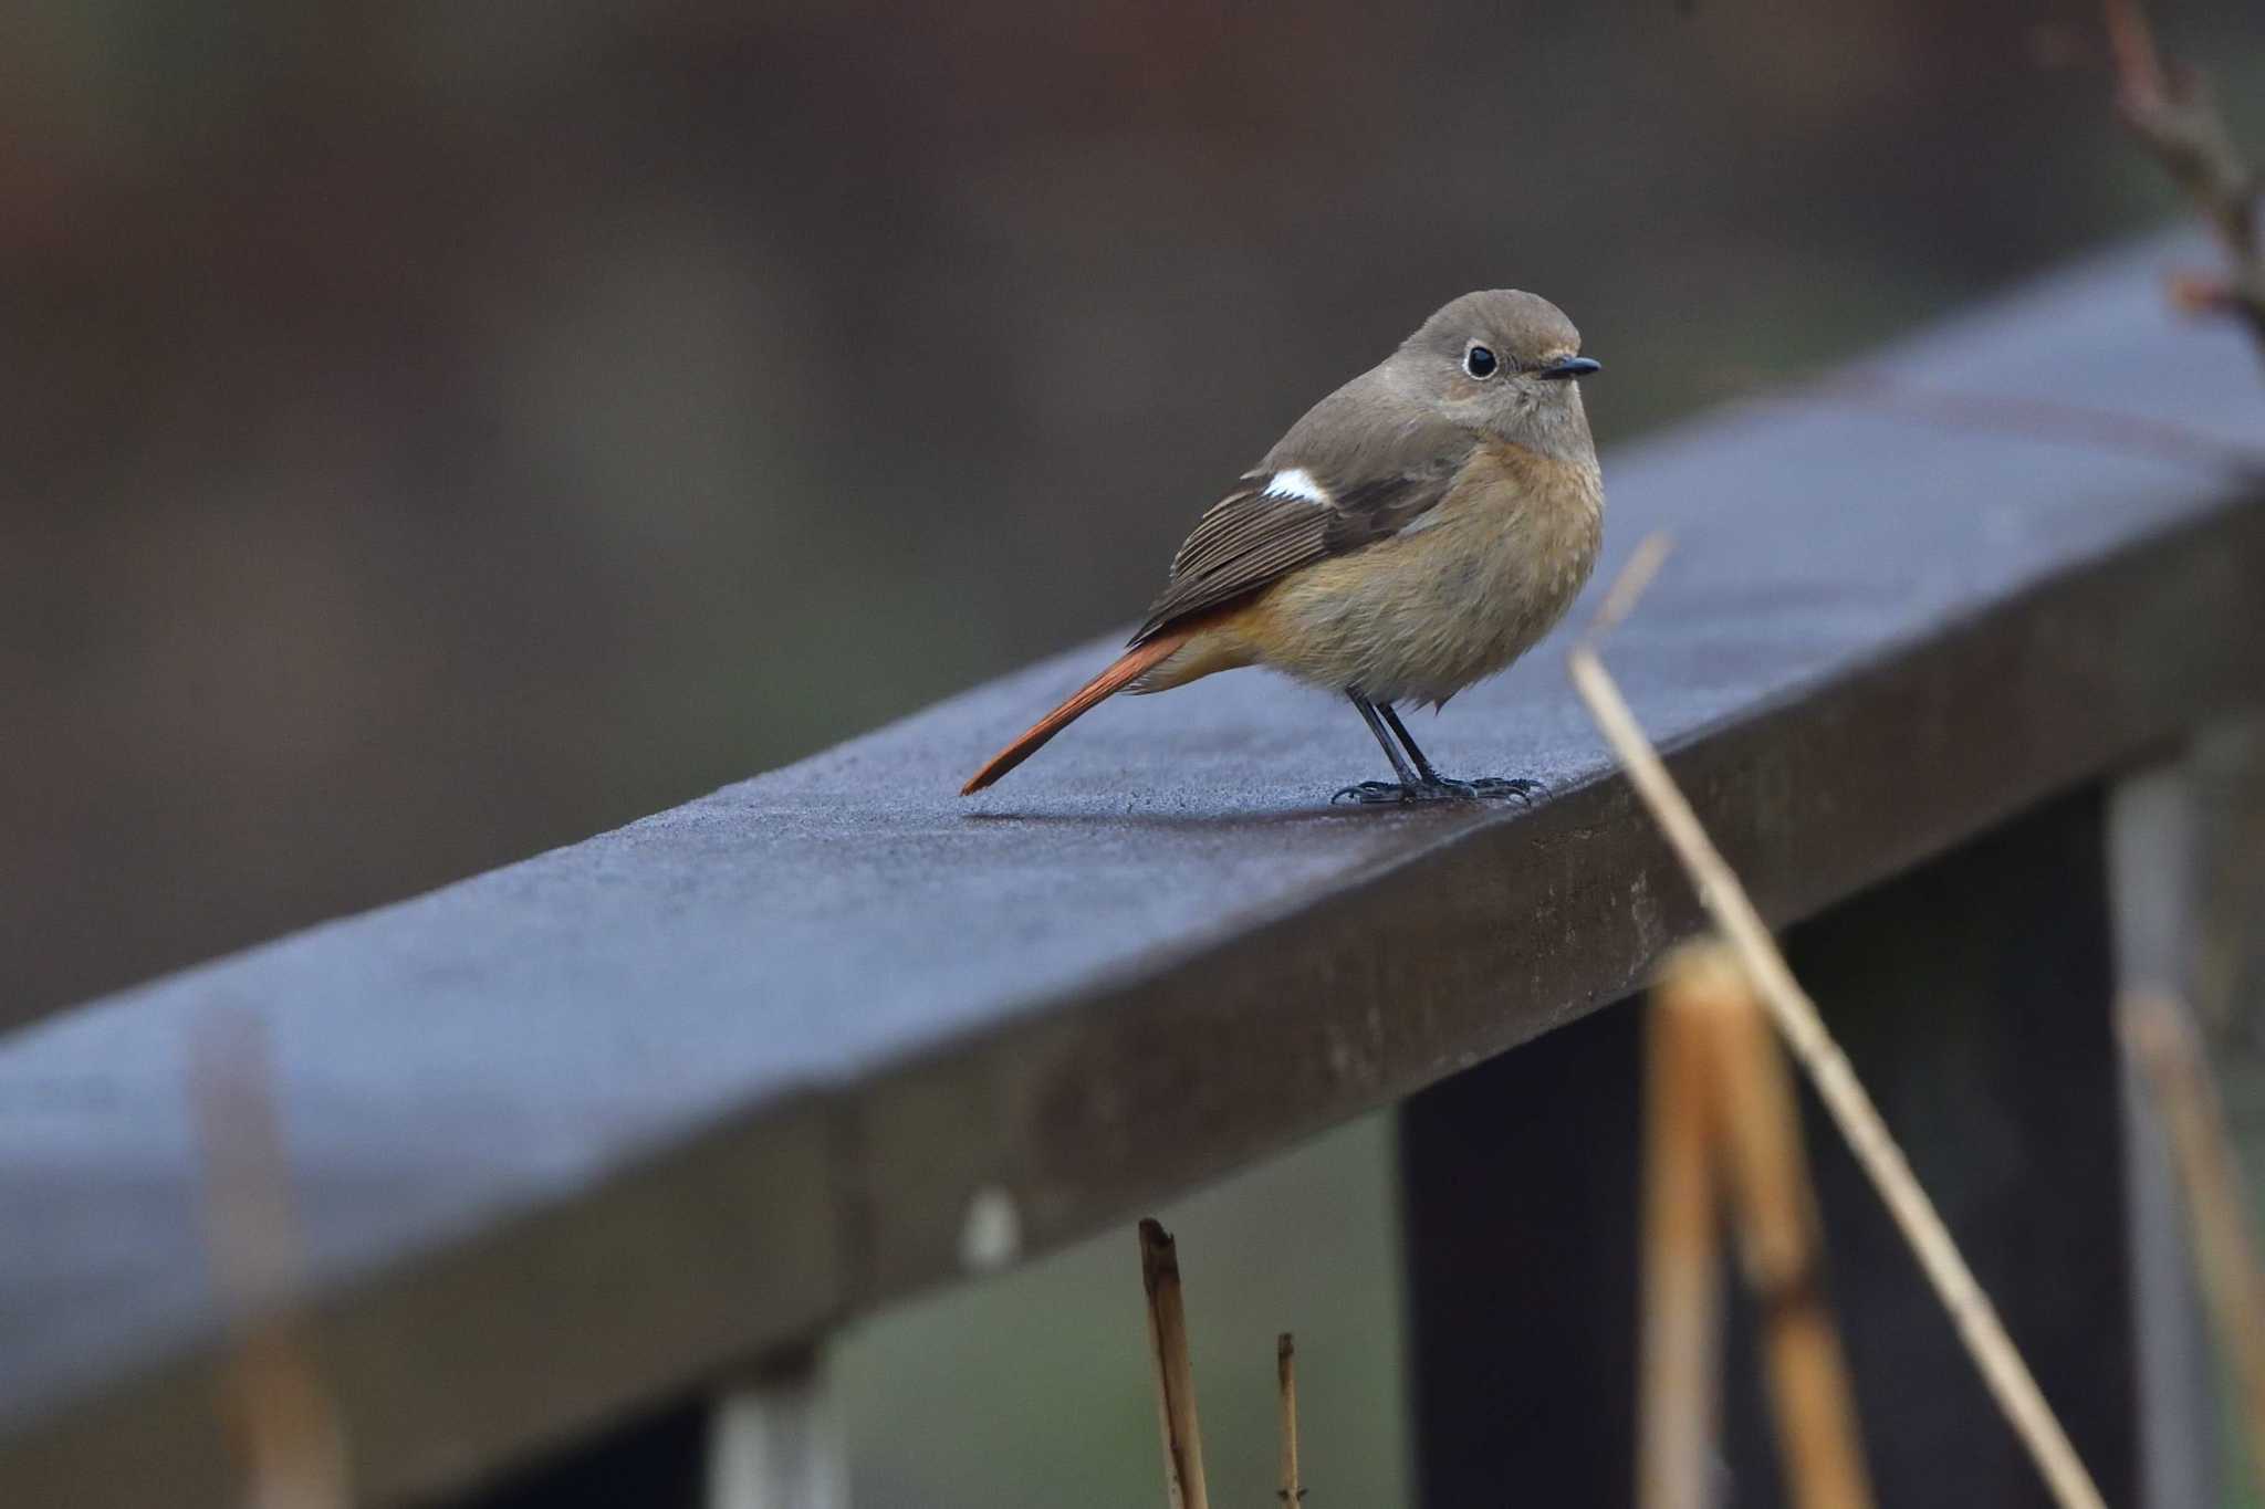
[[[1685,971],[1712,1050],[1715,1129],[1746,1285],[1762,1312],[1787,1495],[1810,1509],[1869,1509],[1855,1389],[1826,1303],[1817,1195],[1785,1059],[1730,948],[1703,943]]]

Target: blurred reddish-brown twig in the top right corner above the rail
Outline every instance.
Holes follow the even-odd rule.
[[[2249,324],[2265,351],[2265,258],[2258,256],[2258,176],[2233,145],[2226,120],[2195,68],[2165,63],[2140,0],[2102,0],[2109,57],[2116,61],[2116,113],[2154,154],[2226,249],[2226,276],[2181,274],[2174,299],[2195,310],[2226,310]]]

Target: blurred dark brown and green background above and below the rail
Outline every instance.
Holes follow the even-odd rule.
[[[2258,7],[2156,14],[2265,140]],[[2174,208],[2079,2],[16,0],[0,1025],[1137,615],[1468,287],[1583,328],[1610,473]],[[1282,1326],[1402,1498],[1391,1199],[1361,1124],[1171,1213],[1225,1500]],[[861,1502],[1153,1502],[1137,1299],[1123,1233],[856,1330]]]

